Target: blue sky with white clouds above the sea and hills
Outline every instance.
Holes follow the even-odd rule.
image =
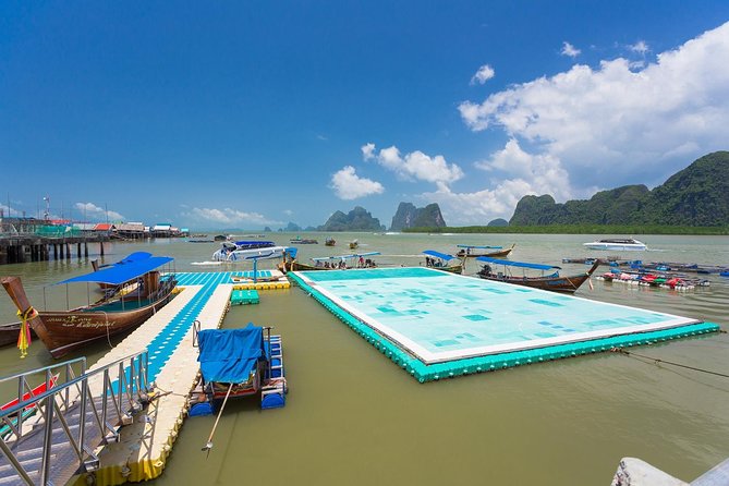
[[[0,207],[190,228],[655,186],[729,139],[729,2],[0,4]]]

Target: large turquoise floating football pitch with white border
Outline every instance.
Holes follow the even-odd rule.
[[[289,276],[421,382],[719,330],[422,267]]]

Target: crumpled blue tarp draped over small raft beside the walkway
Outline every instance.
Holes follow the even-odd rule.
[[[264,329],[248,323],[243,329],[199,331],[201,372],[205,381],[242,384],[264,356]]]

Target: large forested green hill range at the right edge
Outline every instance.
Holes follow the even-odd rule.
[[[729,151],[695,160],[653,191],[624,185],[564,204],[550,195],[524,196],[509,220],[546,224],[729,226]]]

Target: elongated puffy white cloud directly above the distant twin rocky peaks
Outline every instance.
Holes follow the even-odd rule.
[[[450,184],[463,177],[463,170],[455,163],[448,163],[441,155],[430,157],[415,150],[403,156],[394,145],[376,154],[374,144],[366,146],[369,159],[377,160],[380,166],[405,180]]]

